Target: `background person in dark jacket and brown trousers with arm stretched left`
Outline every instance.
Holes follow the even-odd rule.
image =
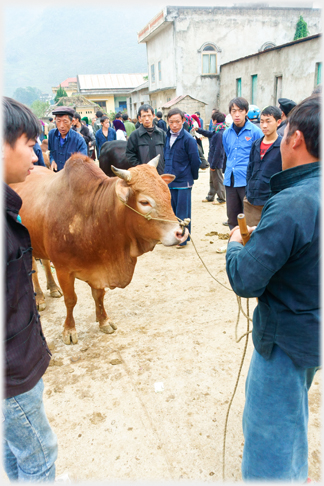
[[[223,133],[226,129],[225,115],[220,111],[214,111],[212,114],[213,131],[197,128],[197,132],[204,137],[209,138],[208,162],[210,166],[209,173],[209,192],[203,202],[213,202],[217,194],[216,201],[213,204],[225,203],[225,187],[223,184],[226,155],[223,147]]]

